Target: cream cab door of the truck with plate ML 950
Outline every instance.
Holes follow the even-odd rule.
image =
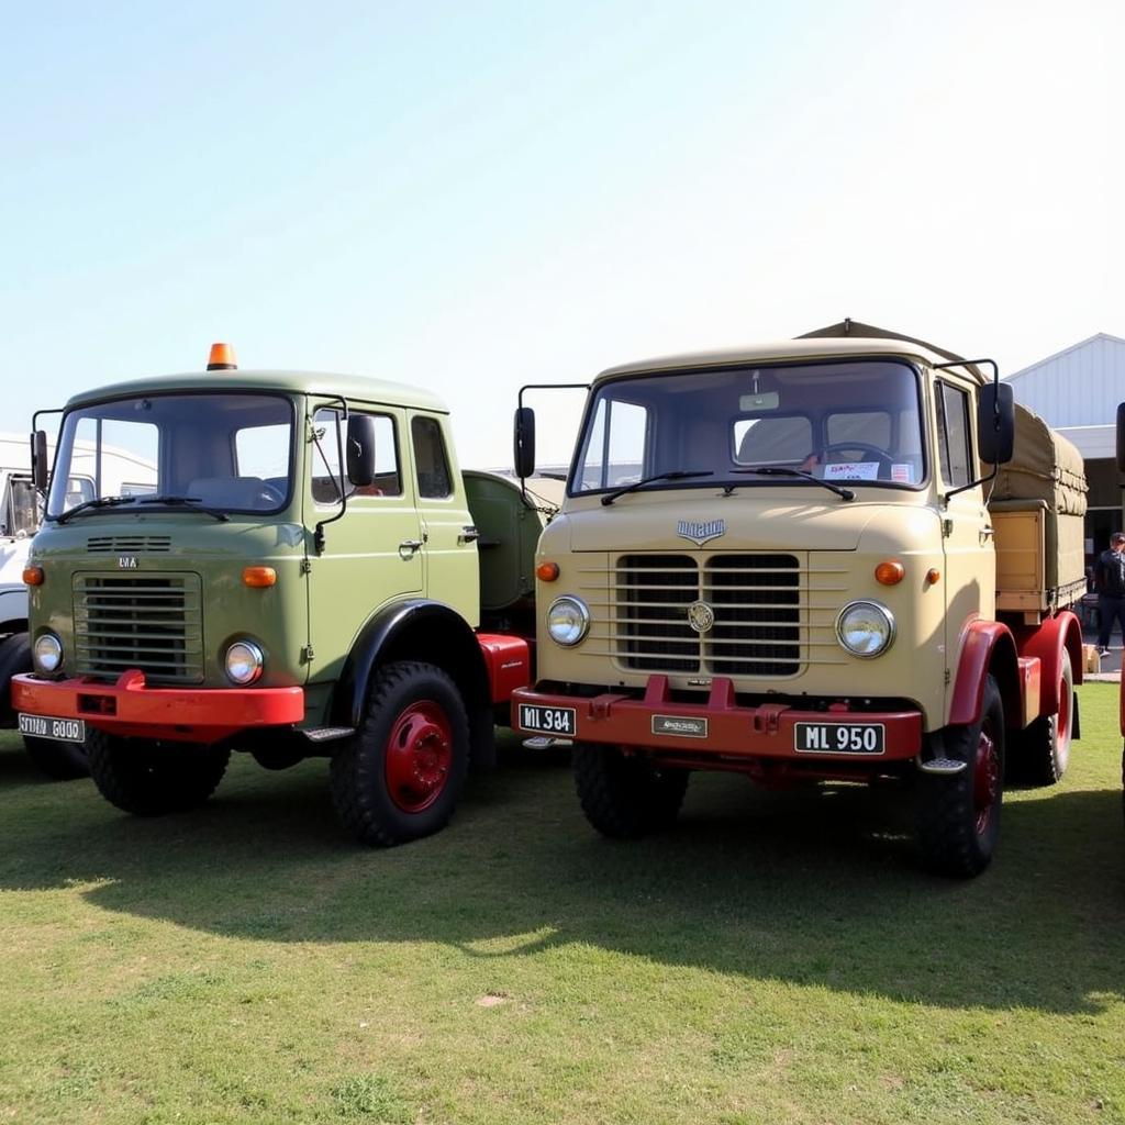
[[[974,388],[954,378],[934,384],[937,424],[937,477],[943,494],[979,476],[972,423]],[[976,618],[996,618],[996,552],[992,521],[984,505],[983,486],[958,492],[942,512],[945,551],[945,651],[950,669],[946,713],[961,659],[965,627]]]

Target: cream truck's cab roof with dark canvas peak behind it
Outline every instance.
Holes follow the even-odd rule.
[[[719,351],[686,352],[680,356],[662,356],[622,363],[602,371],[594,382],[616,378],[622,375],[641,375],[652,371],[681,370],[693,367],[734,367],[746,363],[781,360],[821,360],[853,358],[858,356],[906,356],[926,363],[961,362],[965,372],[979,382],[991,381],[975,363],[964,360],[955,352],[889,328],[879,328],[858,321],[842,321],[839,324],[798,336],[796,340],[778,340],[772,343],[753,344],[746,348],[730,348]]]

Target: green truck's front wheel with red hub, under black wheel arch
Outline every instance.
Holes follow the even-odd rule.
[[[363,723],[332,758],[332,802],[361,844],[392,847],[440,831],[469,765],[469,720],[453,681],[403,660],[376,674]]]

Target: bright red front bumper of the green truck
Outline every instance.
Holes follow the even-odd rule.
[[[83,719],[110,735],[180,742],[217,742],[241,730],[305,718],[302,687],[146,687],[136,668],[115,684],[12,676],[11,702],[24,714]]]

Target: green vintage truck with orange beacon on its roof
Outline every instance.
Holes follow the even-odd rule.
[[[243,371],[216,345],[205,371],[72,398],[51,480],[25,572],[35,668],[12,682],[26,736],[84,741],[101,793],[142,816],[207,800],[243,750],[328,758],[363,843],[448,821],[529,682],[541,520],[513,482],[461,474],[436,398]]]

